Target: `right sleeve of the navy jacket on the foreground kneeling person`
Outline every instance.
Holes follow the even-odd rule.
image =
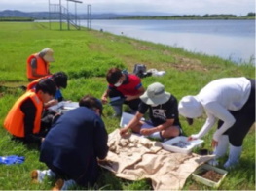
[[[105,129],[105,125],[100,118],[97,118],[94,122],[95,131],[94,131],[94,145],[95,145],[95,154],[99,159],[104,159],[107,156],[108,152],[108,134]]]

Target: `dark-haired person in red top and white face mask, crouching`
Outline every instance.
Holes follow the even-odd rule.
[[[115,111],[115,116],[122,114],[122,105],[126,104],[131,111],[137,111],[141,96],[145,89],[140,78],[136,75],[127,74],[118,68],[111,68],[107,72],[106,80],[108,89],[103,93],[101,101],[107,103],[110,98],[110,105]]]

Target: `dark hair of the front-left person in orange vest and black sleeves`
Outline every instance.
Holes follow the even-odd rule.
[[[56,92],[56,85],[53,80],[50,79],[42,79],[36,84],[36,93],[41,90],[44,93],[48,93],[49,95],[54,96]]]

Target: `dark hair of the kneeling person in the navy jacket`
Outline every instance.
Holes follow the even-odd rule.
[[[101,101],[91,95],[85,95],[79,101],[79,106],[87,107],[89,109],[99,109],[100,115],[102,115],[103,107]]]

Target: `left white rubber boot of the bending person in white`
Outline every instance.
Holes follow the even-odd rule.
[[[228,150],[228,146],[229,146],[229,136],[227,135],[222,135],[220,137],[220,140],[218,142],[218,145],[215,147],[213,154],[215,155],[215,157],[213,159],[211,159],[208,164],[212,165],[212,166],[217,166],[218,163],[218,158],[223,157],[227,150]]]

